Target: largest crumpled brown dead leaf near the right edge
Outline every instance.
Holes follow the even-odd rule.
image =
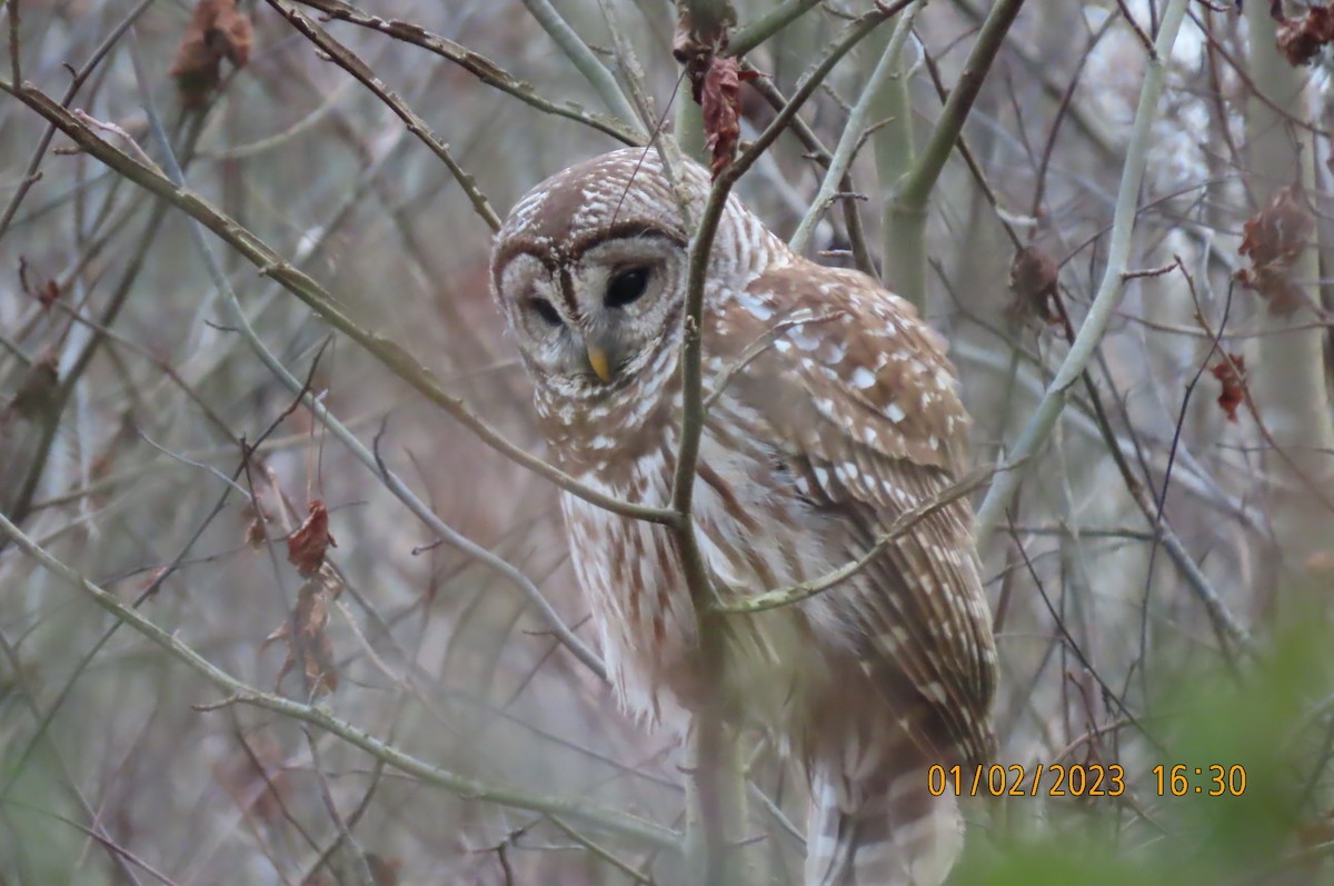
[[[1246,222],[1238,252],[1250,256],[1251,268],[1239,271],[1237,280],[1269,299],[1270,314],[1289,315],[1305,304],[1306,295],[1293,282],[1291,270],[1314,230],[1315,220],[1293,185]]]

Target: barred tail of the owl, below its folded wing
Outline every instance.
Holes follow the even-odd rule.
[[[954,797],[931,797],[924,769],[831,769],[811,785],[806,886],[940,886],[963,849]]]

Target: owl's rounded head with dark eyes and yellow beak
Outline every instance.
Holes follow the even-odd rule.
[[[698,219],[708,175],[682,167],[680,192]],[[491,282],[539,391],[599,399],[674,364],[688,236],[654,148],[594,157],[519,200],[496,236]],[[711,279],[735,267],[734,251],[720,234]]]

